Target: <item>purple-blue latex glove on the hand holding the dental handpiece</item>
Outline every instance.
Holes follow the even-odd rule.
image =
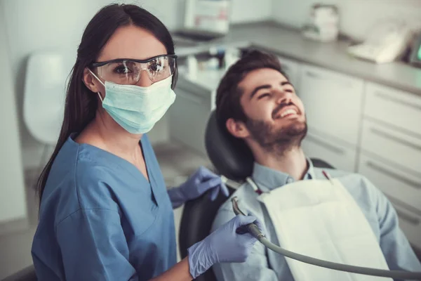
[[[250,233],[237,234],[236,229],[255,223],[262,224],[254,216],[236,216],[215,230],[201,242],[188,249],[189,270],[193,278],[203,274],[215,263],[243,263],[258,240]]]

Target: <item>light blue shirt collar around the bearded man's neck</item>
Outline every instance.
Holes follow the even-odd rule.
[[[307,157],[307,164],[309,168],[305,173],[303,179],[309,180],[315,178],[314,176],[314,166],[312,160]],[[253,168],[253,179],[256,183],[262,185],[265,188],[269,188],[269,190],[273,190],[274,188],[279,188],[283,185],[288,183],[293,183],[295,180],[289,174],[283,173],[281,171],[276,171],[271,169],[267,166],[262,166],[258,163],[254,163]]]

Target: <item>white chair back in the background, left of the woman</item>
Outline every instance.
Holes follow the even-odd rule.
[[[44,144],[39,172],[60,134],[67,78],[75,60],[72,53],[51,50],[34,52],[27,62],[23,119],[29,133]]]

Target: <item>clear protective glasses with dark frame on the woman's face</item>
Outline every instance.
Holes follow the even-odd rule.
[[[157,55],[147,60],[117,58],[105,62],[92,63],[97,67],[98,76],[115,84],[135,85],[145,71],[152,82],[158,82],[174,74],[177,55]]]

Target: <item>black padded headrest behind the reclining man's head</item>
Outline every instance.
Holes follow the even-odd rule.
[[[210,113],[205,133],[208,157],[215,169],[233,181],[244,181],[253,173],[253,155],[242,140],[232,136]]]

